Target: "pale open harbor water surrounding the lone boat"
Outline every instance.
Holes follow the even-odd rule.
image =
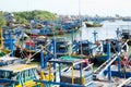
[[[116,22],[104,21],[102,24],[102,27],[86,27],[85,23],[83,23],[83,26],[76,33],[66,34],[57,37],[67,37],[67,39],[71,41],[73,36],[73,40],[75,39],[94,41],[93,32],[95,30],[97,33],[97,40],[116,39],[117,28],[119,28],[120,30],[131,28],[131,22],[123,22],[121,20]]]

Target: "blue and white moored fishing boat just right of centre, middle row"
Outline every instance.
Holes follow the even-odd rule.
[[[98,63],[98,59],[106,59],[107,55],[103,53],[103,46],[100,44],[93,44],[88,40],[74,41],[72,50],[75,54],[72,57],[78,57],[81,59],[88,59],[92,63]]]

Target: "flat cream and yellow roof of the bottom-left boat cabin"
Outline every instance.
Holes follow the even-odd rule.
[[[10,65],[5,65],[5,66],[1,66],[0,71],[2,72],[12,72],[12,73],[17,73],[17,72],[23,72],[26,70],[31,70],[31,69],[36,69],[37,65],[36,64],[10,64]]]

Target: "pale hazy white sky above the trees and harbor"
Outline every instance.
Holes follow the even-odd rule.
[[[131,0],[0,0],[0,11],[32,10],[63,15],[131,16]]]

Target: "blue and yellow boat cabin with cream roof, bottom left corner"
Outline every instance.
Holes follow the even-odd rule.
[[[11,64],[0,67],[0,87],[34,87],[37,86],[37,65]]]

